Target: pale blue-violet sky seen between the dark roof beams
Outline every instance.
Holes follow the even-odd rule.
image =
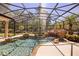
[[[21,6],[23,7],[22,4],[20,3],[13,3],[14,5],[17,5],[17,6]],[[31,8],[31,7],[38,7],[40,3],[24,3],[24,6],[26,8]],[[60,7],[60,6],[63,6],[63,5],[67,5],[69,3],[59,3],[57,7]],[[48,8],[53,8],[54,6],[56,5],[56,3],[43,3],[42,4],[42,7],[48,7]],[[62,10],[69,10],[70,8],[72,8],[74,5],[71,5],[71,6],[68,6],[68,7],[63,7],[63,8],[60,8]],[[11,10],[16,10],[16,9],[21,9],[21,8],[16,8],[16,7],[13,7],[13,6],[10,6],[10,9]],[[35,9],[29,9],[28,11],[32,12],[32,13],[35,13],[36,10]],[[49,10],[47,9],[46,10],[48,13],[50,13],[52,10]],[[64,12],[63,11],[58,11],[57,12],[61,15],[63,14]],[[76,13],[76,14],[79,14],[79,6],[76,7],[75,9],[71,10],[70,12],[73,12],[73,13]],[[52,13],[52,14],[57,14],[55,11]],[[68,16],[68,15],[71,15],[70,13],[67,13],[65,14],[64,16]],[[63,20],[64,18],[60,17],[59,19]]]

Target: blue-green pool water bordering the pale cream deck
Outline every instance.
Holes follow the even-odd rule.
[[[53,37],[45,39],[17,40],[0,46],[0,56],[31,56],[32,50],[38,44],[50,42]]]

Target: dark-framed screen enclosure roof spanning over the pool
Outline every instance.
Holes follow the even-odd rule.
[[[39,17],[64,21],[69,15],[79,16],[79,3],[0,3],[0,15],[15,21]]]

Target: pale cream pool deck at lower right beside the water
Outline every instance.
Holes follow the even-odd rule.
[[[79,43],[77,45],[73,45],[73,56],[79,56]],[[33,50],[32,56],[71,56],[71,44],[63,42],[40,44]]]

